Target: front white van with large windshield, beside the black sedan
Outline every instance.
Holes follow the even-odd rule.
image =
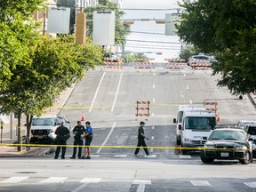
[[[204,143],[217,124],[215,113],[205,108],[188,108],[183,112],[182,124],[179,126],[181,153],[204,147]],[[184,148],[184,149],[183,149]]]

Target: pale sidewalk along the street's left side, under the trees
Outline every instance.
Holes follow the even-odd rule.
[[[60,108],[64,106],[70,93],[73,91],[76,84],[72,84],[71,87],[68,87],[65,91],[61,92],[58,100],[55,101],[52,108],[46,108],[44,115],[58,115],[60,113]],[[21,120],[21,124],[25,123],[25,119]],[[21,151],[17,150],[17,147],[4,146],[4,144],[12,144],[17,141],[16,135],[16,125],[17,119],[14,119],[12,125],[12,139],[11,139],[11,128],[10,125],[4,125],[2,143],[0,143],[0,157],[17,157],[17,156],[43,156],[45,153],[49,152],[51,148],[36,148],[32,147],[30,150],[26,150],[26,147],[23,147]],[[25,127],[21,130],[21,134],[25,134]]]

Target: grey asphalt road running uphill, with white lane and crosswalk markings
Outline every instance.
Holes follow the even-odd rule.
[[[255,119],[250,100],[217,87],[217,78],[211,70],[167,72],[161,64],[151,71],[128,66],[86,72],[60,115],[72,126],[82,114],[91,122],[92,159],[69,159],[72,148],[65,160],[53,160],[53,154],[1,159],[0,191],[256,191],[255,163],[203,164],[198,152],[182,156],[168,149],[175,147],[172,119],[179,105],[217,101],[221,124]],[[150,101],[149,117],[135,116],[137,100]],[[116,148],[137,144],[140,121],[146,122],[150,156],[142,149],[133,156],[135,148]]]

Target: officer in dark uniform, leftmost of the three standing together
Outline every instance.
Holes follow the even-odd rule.
[[[57,135],[56,145],[63,145],[63,147],[59,147],[59,146],[57,147],[54,159],[58,159],[58,157],[60,155],[60,148],[62,148],[61,159],[65,159],[67,140],[70,136],[68,127],[64,126],[64,122],[61,122],[60,126],[56,129],[56,131],[54,133]]]

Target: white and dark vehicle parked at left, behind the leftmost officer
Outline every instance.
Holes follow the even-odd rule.
[[[56,139],[54,132],[59,125],[57,116],[33,117],[30,143],[53,143]]]

